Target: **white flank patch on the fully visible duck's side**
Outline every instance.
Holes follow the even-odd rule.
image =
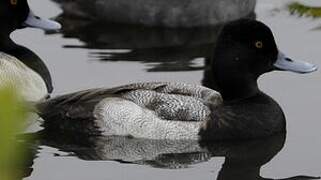
[[[201,122],[163,120],[153,111],[122,98],[105,98],[94,110],[103,135],[148,139],[198,139]]]

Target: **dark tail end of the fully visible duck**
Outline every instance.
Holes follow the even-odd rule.
[[[96,102],[86,101],[82,93],[57,96],[33,103],[34,112],[42,119],[42,127],[47,133],[83,133],[99,135],[92,109]]]

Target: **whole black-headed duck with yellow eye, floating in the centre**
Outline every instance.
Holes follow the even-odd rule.
[[[259,90],[272,70],[309,73],[315,65],[286,58],[261,22],[227,23],[211,64],[217,91],[184,83],[136,83],[63,95],[38,105],[48,131],[149,139],[226,140],[285,131],[281,107]]]

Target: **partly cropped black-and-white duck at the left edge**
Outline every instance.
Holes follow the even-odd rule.
[[[46,65],[31,50],[13,42],[10,34],[24,27],[55,30],[60,24],[36,16],[27,0],[1,0],[0,22],[0,87],[16,87],[27,101],[46,98],[53,89]]]

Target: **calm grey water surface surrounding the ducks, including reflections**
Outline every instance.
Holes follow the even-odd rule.
[[[258,0],[248,16],[268,24],[294,59],[320,61],[320,20],[290,16],[290,0]],[[207,57],[220,25],[168,29],[106,24],[61,14],[59,4],[30,0],[37,14],[57,17],[60,33],[26,29],[13,38],[34,50],[61,94],[138,81],[208,84]],[[228,11],[228,9],[226,9]],[[288,133],[240,143],[199,144],[121,137],[44,136],[30,145],[26,179],[284,179],[321,175],[320,71],[266,74],[261,89],[282,106]],[[292,179],[304,179],[297,177]]]

